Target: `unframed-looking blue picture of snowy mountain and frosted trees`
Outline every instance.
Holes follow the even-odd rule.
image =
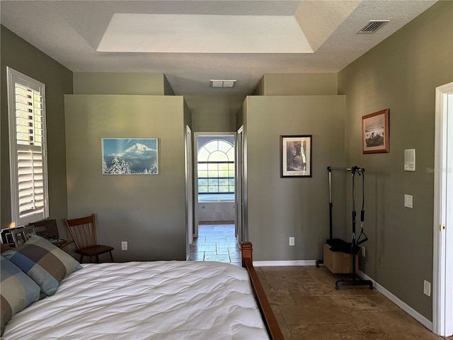
[[[102,174],[159,174],[157,144],[157,138],[102,138]]]

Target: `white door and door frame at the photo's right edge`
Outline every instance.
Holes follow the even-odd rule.
[[[453,82],[435,91],[432,331],[441,336],[453,334],[453,272],[447,270],[453,266],[453,211],[447,209],[453,199],[453,139],[448,135],[453,135]]]

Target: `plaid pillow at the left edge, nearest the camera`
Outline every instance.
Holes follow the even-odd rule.
[[[11,317],[39,299],[40,288],[4,256],[1,256],[0,268],[1,335],[3,335],[5,325]]]

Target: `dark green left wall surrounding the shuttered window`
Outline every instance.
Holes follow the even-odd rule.
[[[64,94],[72,94],[72,72],[18,37],[4,26],[1,30],[1,228],[11,224],[9,182],[8,100],[6,67],[45,84],[47,118],[47,166],[49,171],[49,213],[67,235],[66,148],[64,140]]]

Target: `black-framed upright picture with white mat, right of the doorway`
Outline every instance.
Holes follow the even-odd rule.
[[[280,136],[280,177],[311,177],[311,135]]]

